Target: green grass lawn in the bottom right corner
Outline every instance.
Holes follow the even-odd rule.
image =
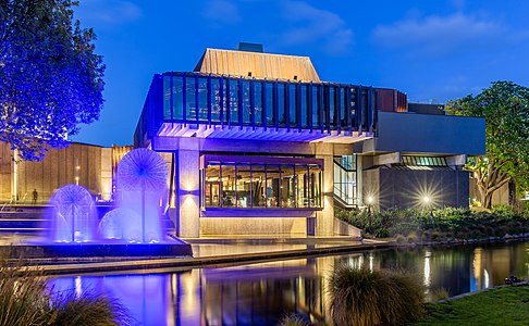
[[[529,325],[529,285],[428,304],[427,310],[427,318],[411,325]]]

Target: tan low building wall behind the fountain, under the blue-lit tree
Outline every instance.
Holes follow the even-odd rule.
[[[115,166],[131,149],[72,142],[49,149],[41,162],[19,162],[10,146],[0,142],[0,202],[28,204],[36,190],[37,203],[47,203],[57,189],[70,184],[82,185],[99,201],[110,201]]]

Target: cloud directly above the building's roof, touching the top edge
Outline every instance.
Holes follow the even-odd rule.
[[[331,55],[350,51],[354,33],[337,14],[303,1],[285,1],[281,7],[283,18],[292,25],[279,36],[284,46],[321,45]]]

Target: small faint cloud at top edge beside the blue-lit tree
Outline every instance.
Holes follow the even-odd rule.
[[[89,23],[118,25],[136,21],[143,16],[142,9],[123,0],[85,0],[79,4],[77,16]]]

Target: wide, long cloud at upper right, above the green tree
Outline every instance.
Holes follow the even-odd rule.
[[[479,51],[526,38],[527,33],[487,17],[465,15],[415,17],[379,25],[373,41],[385,48],[404,48],[410,54],[442,55],[453,51]]]

